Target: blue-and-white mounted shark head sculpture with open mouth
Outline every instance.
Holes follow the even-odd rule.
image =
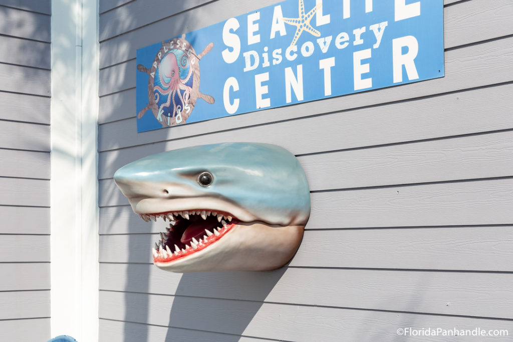
[[[114,180],[143,220],[169,221],[153,263],[173,272],[282,267],[310,215],[305,173],[293,154],[275,145],[157,153],[117,170]]]

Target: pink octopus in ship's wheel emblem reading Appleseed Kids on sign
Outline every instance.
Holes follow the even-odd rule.
[[[149,76],[149,101],[137,113],[137,118],[140,119],[151,109],[162,127],[169,127],[185,124],[198,98],[213,104],[214,98],[200,91],[199,63],[212,47],[213,43],[210,43],[202,53],[196,55],[184,34],[180,38],[162,42],[150,69],[137,65],[137,70]]]

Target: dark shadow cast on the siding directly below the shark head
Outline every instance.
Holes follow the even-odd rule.
[[[183,274],[169,313],[166,342],[181,340],[173,327],[220,332],[224,334],[216,334],[216,341],[238,341],[286,269]],[[194,339],[194,331],[187,335],[201,340]]]

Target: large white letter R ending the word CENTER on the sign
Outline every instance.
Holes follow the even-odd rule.
[[[403,47],[408,48],[408,52],[404,55]],[[419,42],[414,36],[392,39],[393,83],[403,82],[403,65],[409,81],[419,78],[414,61],[417,53],[419,53]]]

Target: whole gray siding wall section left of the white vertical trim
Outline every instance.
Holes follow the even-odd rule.
[[[0,340],[50,338],[50,0],[0,0]]]

